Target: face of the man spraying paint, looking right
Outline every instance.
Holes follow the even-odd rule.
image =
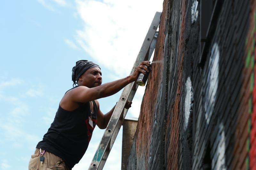
[[[101,71],[99,67],[92,67],[84,72],[79,78],[79,85],[92,88],[100,86],[102,83]]]

